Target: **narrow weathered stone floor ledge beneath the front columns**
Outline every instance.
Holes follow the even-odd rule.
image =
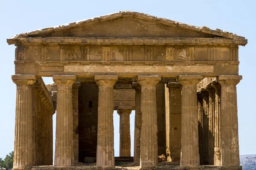
[[[54,167],[54,166],[36,166],[30,167],[29,170],[242,170],[241,166],[184,166],[167,165],[167,162],[158,163],[157,166],[143,167],[133,165],[132,162],[127,164],[120,164],[116,162],[116,167],[96,167],[96,166],[67,166],[67,167]],[[14,169],[17,170],[17,169]],[[19,169],[20,170],[20,169]]]

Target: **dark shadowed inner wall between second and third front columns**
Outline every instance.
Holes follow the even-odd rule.
[[[79,88],[79,162],[96,157],[98,126],[98,94],[96,84],[81,83]]]

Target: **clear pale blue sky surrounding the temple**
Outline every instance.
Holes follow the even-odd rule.
[[[14,149],[16,85],[15,46],[6,39],[38,28],[56,26],[116,11],[131,10],[194,26],[219,28],[248,39],[239,47],[237,86],[240,154],[256,154],[256,1],[253,0],[0,0],[0,157]],[[46,83],[51,83],[47,79]],[[134,126],[134,113],[131,114]],[[115,154],[119,151],[119,116],[114,113]],[[133,129],[131,130],[133,135]],[[131,139],[133,141],[133,139]],[[132,152],[133,153],[133,152]],[[132,154],[133,155],[133,154]]]

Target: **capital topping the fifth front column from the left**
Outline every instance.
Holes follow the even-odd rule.
[[[203,77],[200,75],[182,75],[178,77],[178,82],[180,82],[182,86],[196,86],[202,78]]]

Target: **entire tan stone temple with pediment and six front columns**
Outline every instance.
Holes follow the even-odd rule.
[[[118,169],[114,110],[116,159],[134,161],[123,169],[241,170],[236,85],[244,37],[121,11],[7,42],[16,46],[15,170]]]

